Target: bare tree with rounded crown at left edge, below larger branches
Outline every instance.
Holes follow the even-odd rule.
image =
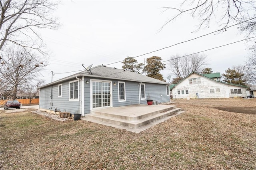
[[[6,55],[7,59],[3,59],[0,69],[1,94],[8,93],[15,98],[17,91],[33,81],[46,65],[23,48],[10,48]]]

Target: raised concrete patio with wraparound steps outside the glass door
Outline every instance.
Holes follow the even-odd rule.
[[[81,120],[139,133],[183,112],[174,105],[130,105],[95,109]]]

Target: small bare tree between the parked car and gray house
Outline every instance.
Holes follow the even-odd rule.
[[[37,95],[39,91],[38,88],[44,85],[44,83],[45,83],[45,80],[42,80],[42,79],[36,80],[35,82],[29,81],[25,83],[25,86],[23,87],[21,92],[26,96],[28,96],[30,105],[31,105],[31,101],[34,99],[34,97]]]

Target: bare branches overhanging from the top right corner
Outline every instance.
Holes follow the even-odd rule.
[[[160,30],[183,14],[190,13],[199,18],[196,31],[210,27],[210,22],[218,23],[221,29],[236,23],[240,32],[246,33],[246,38],[256,34],[256,3],[254,0],[184,0],[180,7],[163,7],[164,12],[176,12]],[[256,65],[256,38],[250,40],[249,50],[252,55],[250,64]]]

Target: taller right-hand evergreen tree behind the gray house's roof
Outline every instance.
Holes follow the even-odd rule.
[[[143,72],[146,72],[148,77],[166,81],[163,75],[160,74],[160,71],[166,68],[161,60],[161,57],[157,56],[147,58],[147,65],[144,67]]]

